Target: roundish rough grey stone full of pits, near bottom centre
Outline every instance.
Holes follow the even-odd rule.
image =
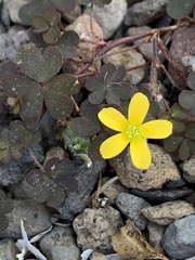
[[[103,253],[114,252],[110,236],[123,225],[123,220],[118,210],[113,207],[86,208],[78,214],[73,226],[77,234],[77,244],[81,250],[98,250]]]

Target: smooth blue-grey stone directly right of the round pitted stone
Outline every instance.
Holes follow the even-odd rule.
[[[116,200],[116,206],[127,219],[133,221],[139,230],[145,230],[147,219],[142,214],[142,209],[150,206],[143,198],[128,193],[120,193]]]

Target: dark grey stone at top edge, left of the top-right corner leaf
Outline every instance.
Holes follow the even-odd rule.
[[[166,6],[170,0],[145,0],[134,3],[128,9],[126,25],[146,25],[166,14]]]

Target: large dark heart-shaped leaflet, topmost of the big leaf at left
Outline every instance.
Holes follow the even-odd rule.
[[[17,66],[29,78],[38,82],[47,82],[61,69],[63,57],[55,47],[41,51],[30,44],[23,46],[15,56]]]

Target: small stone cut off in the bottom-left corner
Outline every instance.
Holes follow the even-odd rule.
[[[16,260],[16,253],[18,252],[14,240],[1,239],[0,240],[0,259],[2,260]]]

